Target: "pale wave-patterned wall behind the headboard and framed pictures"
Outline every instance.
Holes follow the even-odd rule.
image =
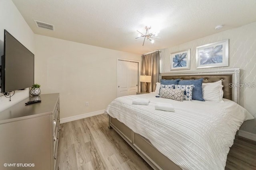
[[[189,48],[190,70],[203,70],[196,69],[196,47],[224,39],[229,39],[229,66],[208,69],[240,68],[240,83],[255,83],[256,85],[256,22],[162,49],[160,72],[170,72],[170,53]],[[240,105],[252,115],[256,113],[255,95],[256,87],[240,88]],[[256,134],[256,120],[246,121],[241,129]]]

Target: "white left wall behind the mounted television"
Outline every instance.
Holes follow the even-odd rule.
[[[11,0],[0,0],[0,56],[4,54],[4,29],[34,53],[34,33]],[[27,88],[23,91],[16,91],[15,95],[12,96],[11,102],[9,102],[9,98],[0,97],[0,111],[7,109],[28,96]]]

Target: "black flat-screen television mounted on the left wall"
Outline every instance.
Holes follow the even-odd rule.
[[[34,84],[34,54],[4,30],[1,92],[11,92]]]

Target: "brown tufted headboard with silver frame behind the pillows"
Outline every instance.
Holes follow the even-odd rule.
[[[222,70],[203,70],[192,72],[174,72],[174,73],[160,73],[160,79],[166,80],[197,80],[203,78],[204,83],[216,82],[222,80],[223,98],[233,100],[239,104],[239,68],[222,69]],[[236,85],[234,85],[236,84]],[[232,86],[234,85],[234,86]]]

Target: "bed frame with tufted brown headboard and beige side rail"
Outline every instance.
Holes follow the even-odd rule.
[[[203,82],[216,82],[222,80],[224,95],[223,98],[233,100],[239,104],[239,88],[231,86],[239,84],[239,68],[222,70],[204,70],[192,72],[161,73],[160,79],[174,80],[196,80],[204,78]],[[232,84],[230,84],[232,83]],[[124,123],[109,116],[109,128],[113,128],[154,170],[181,170],[170,159],[160,153],[146,138],[134,133]]]

